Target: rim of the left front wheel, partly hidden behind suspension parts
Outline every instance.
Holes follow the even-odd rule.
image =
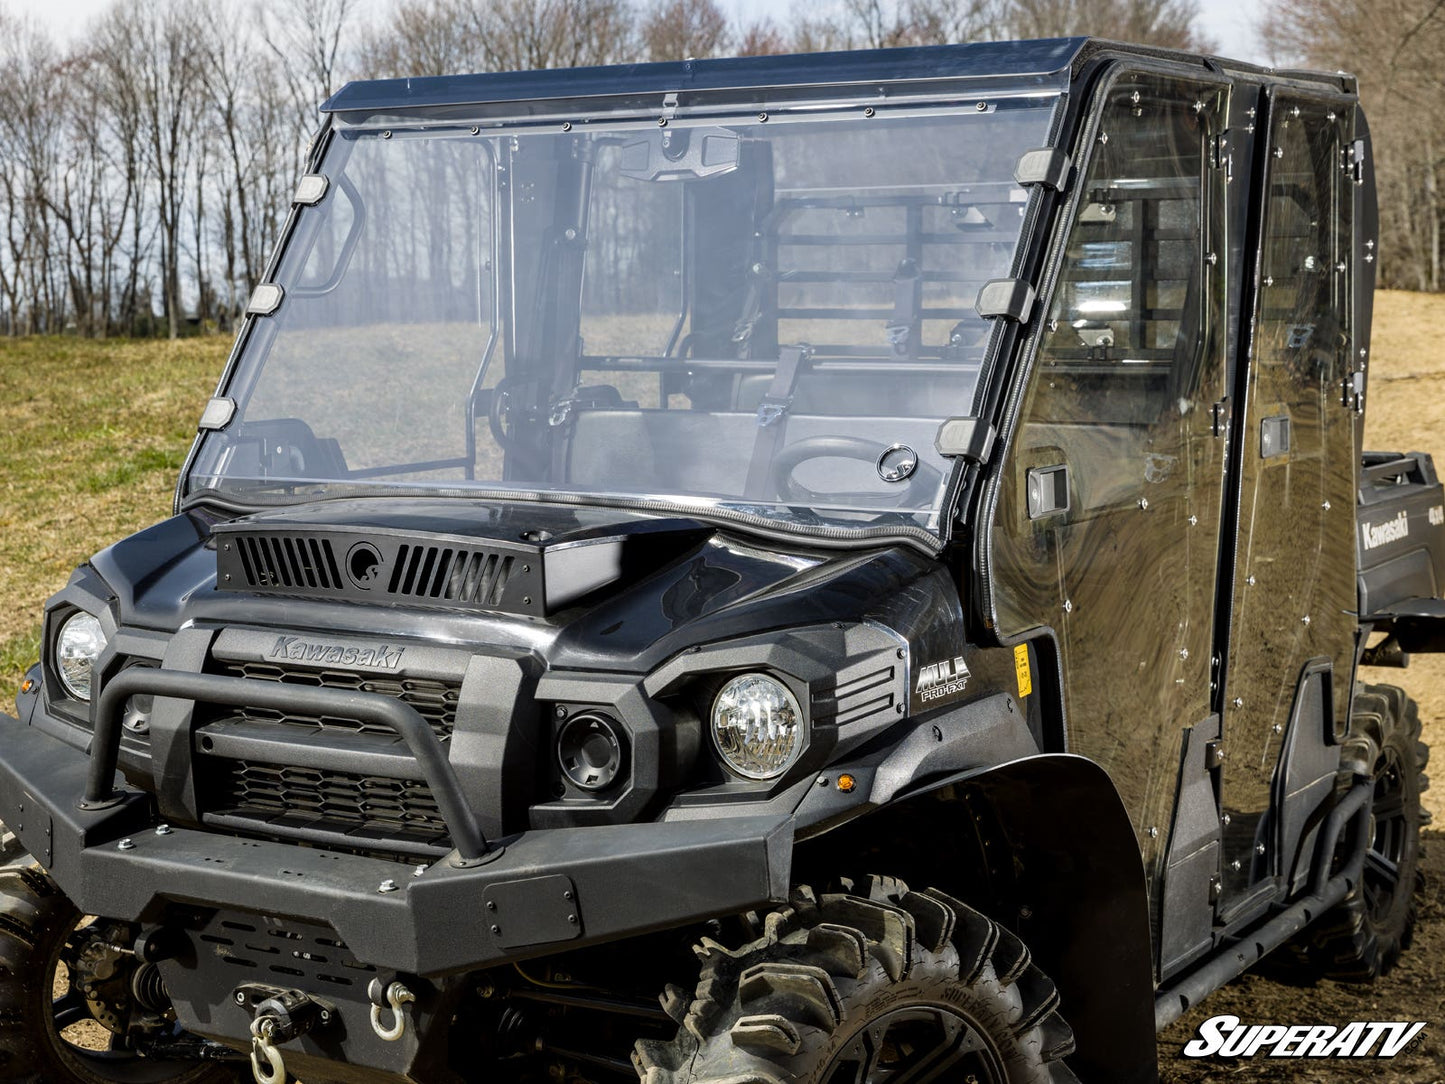
[[[116,1084],[163,1084],[192,1071],[192,1065],[146,1058],[127,1041],[104,1028],[90,1010],[85,994],[72,984],[75,945],[92,925],[81,919],[51,954],[45,989],[51,991],[51,1042],[61,1059],[81,1080]]]

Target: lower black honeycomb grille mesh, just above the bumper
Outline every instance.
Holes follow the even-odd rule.
[[[358,848],[451,850],[431,788],[416,779],[212,759],[207,811],[286,834],[327,833]]]

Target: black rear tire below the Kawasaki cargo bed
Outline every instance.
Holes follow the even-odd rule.
[[[1396,685],[1364,685],[1350,714],[1360,773],[1374,782],[1364,873],[1350,895],[1306,928],[1289,960],[1309,977],[1370,983],[1387,974],[1415,935],[1420,792],[1429,786],[1431,750],[1420,740],[1420,713]]]

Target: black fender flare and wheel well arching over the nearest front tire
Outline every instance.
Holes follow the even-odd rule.
[[[1144,867],[1118,791],[1095,762],[1046,753],[957,770],[900,791],[886,805],[855,806],[853,818],[801,840],[795,861],[809,851],[858,856],[870,840],[887,853],[900,837],[899,822],[928,825],[929,840],[971,837],[978,799],[1013,866],[1012,899],[1000,900],[1004,909],[991,918],[1017,929],[1058,986],[1078,1044],[1069,1067],[1082,1081],[1157,1081]],[[951,883],[967,873],[942,854],[933,869],[902,873],[931,876],[967,902],[980,896],[977,882]],[[980,905],[988,909],[987,900]]]

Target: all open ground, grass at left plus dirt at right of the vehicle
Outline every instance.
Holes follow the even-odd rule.
[[[171,507],[175,471],[228,348],[181,343],[0,341],[0,691],[36,658],[43,600],[91,552]],[[1380,293],[1376,302],[1366,447],[1423,449],[1445,463],[1445,298]],[[1425,736],[1445,778],[1445,656],[1383,671],[1419,700]],[[1445,828],[1445,783],[1426,793]],[[1429,882],[1415,948],[1374,986],[1321,983],[1308,990],[1247,976],[1211,996],[1160,1036],[1169,1084],[1374,1078],[1445,1084],[1445,834],[1426,844]],[[1198,1023],[1233,1013],[1250,1023],[1428,1020],[1423,1041],[1384,1065],[1198,1064],[1179,1049]]]

